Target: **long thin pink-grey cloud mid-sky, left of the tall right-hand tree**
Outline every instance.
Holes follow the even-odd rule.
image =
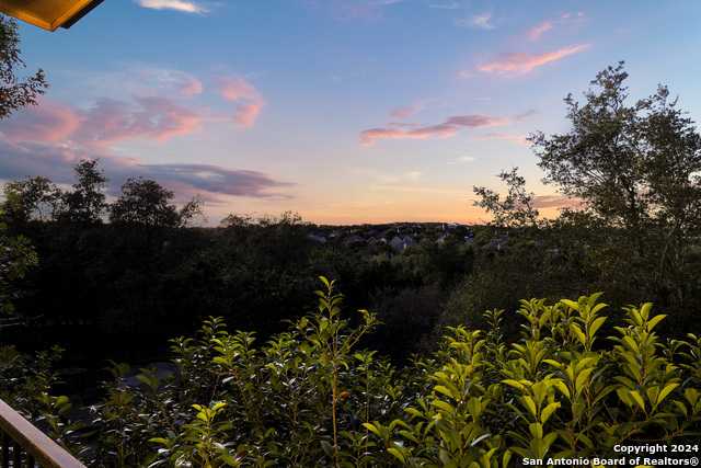
[[[516,115],[513,117],[491,117],[487,115],[456,115],[448,117],[443,124],[436,125],[412,125],[412,124],[389,124],[388,127],[370,128],[360,132],[360,142],[371,145],[379,138],[407,139],[428,137],[451,137],[462,128],[485,128],[497,125],[507,125],[515,121],[520,121],[530,114]]]

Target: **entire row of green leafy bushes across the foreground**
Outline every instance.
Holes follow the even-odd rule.
[[[696,443],[701,339],[660,342],[650,304],[628,307],[604,340],[600,294],[522,300],[521,340],[504,312],[486,331],[448,328],[430,358],[404,368],[358,340],[343,296],[322,278],[319,311],[261,347],[252,333],[205,321],[198,341],[172,340],[177,372],[143,368],[126,385],[115,365],[95,466],[507,467],[524,459],[619,458],[621,444]]]

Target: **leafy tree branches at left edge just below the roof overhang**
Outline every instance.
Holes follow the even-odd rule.
[[[48,88],[42,69],[32,77],[16,76],[18,68],[25,67],[20,58],[20,42],[16,21],[0,14],[0,119],[35,105],[36,98]]]

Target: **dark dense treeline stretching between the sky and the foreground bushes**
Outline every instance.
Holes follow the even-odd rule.
[[[85,165],[99,172],[92,161]],[[106,203],[95,205],[102,217],[91,218],[79,208],[83,216],[76,218],[66,214],[69,209],[56,208],[60,198],[51,203],[54,212],[47,215],[42,208],[39,217],[39,207],[32,212],[30,202],[16,202],[27,195],[22,183],[38,193],[34,182],[25,178],[5,186],[7,233],[28,239],[41,259],[13,284],[19,292],[13,304],[46,330],[43,347],[58,343],[68,354],[73,349],[103,358],[100,350],[85,353],[97,344],[114,351],[162,346],[171,336],[194,335],[209,316],[223,317],[240,330],[279,332],[286,329],[284,320],[313,307],[309,292],[320,275],[337,279],[349,308],[378,313],[384,326],[364,338],[364,344],[395,363],[430,351],[446,326],[481,328],[484,310],[513,313],[519,299],[528,297],[558,300],[601,290],[616,307],[654,300],[657,310],[675,317],[663,329],[670,336],[696,328],[701,252],[689,249],[682,271],[668,279],[680,294],[659,295],[650,286],[644,262],[651,259],[624,254],[625,246],[617,241],[624,236],[621,228],[591,217],[471,229],[410,224],[405,231],[415,231],[420,242],[395,253],[383,244],[344,242],[343,236],[318,242],[309,232],[324,228],[290,213],[261,219],[230,216],[217,228],[187,226],[166,191],[151,206],[166,215],[141,220],[118,219]],[[163,190],[142,182],[148,191]],[[115,204],[133,196],[123,195]],[[518,329],[505,332],[516,336]],[[36,334],[32,340],[36,345]]]

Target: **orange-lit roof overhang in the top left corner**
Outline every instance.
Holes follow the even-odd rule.
[[[70,27],[103,0],[0,0],[0,12],[47,31]]]

